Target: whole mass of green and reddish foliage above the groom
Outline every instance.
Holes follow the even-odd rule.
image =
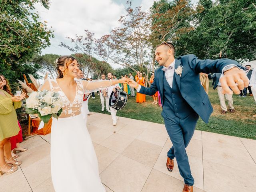
[[[255,0],[199,0],[196,8],[186,0],[160,0],[150,11],[154,18],[152,43],[166,35],[164,40],[171,40],[176,46],[176,56],[256,59]],[[170,25],[172,20],[174,28]],[[172,32],[167,34],[170,29]]]

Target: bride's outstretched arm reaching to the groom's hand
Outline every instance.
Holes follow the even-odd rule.
[[[82,81],[83,86],[84,86],[84,92],[85,93],[90,93],[98,90],[102,90],[106,87],[118,84],[118,83],[128,83],[129,80],[128,78],[123,77],[122,79],[119,80],[98,80],[98,81]]]

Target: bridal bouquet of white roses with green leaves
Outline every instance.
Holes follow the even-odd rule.
[[[26,113],[36,114],[47,123],[51,117],[57,118],[62,113],[63,101],[58,92],[50,90],[35,91],[26,99]]]

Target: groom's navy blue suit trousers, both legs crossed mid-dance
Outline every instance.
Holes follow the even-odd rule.
[[[175,118],[164,117],[164,124],[173,146],[167,152],[167,156],[171,159],[176,158],[180,175],[184,178],[185,184],[194,185],[186,147],[188,146],[198,121],[198,114],[193,113],[184,119],[177,116]]]

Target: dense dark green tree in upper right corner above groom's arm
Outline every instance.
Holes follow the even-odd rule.
[[[200,0],[195,30],[183,38],[186,52],[199,58],[256,59],[256,6],[253,0]]]

